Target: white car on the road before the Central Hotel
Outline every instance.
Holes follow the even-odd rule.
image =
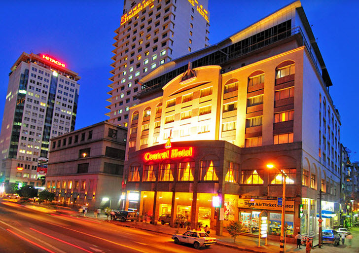
[[[206,248],[217,242],[215,237],[209,236],[205,231],[189,230],[182,235],[174,234],[172,239],[175,244],[191,244],[195,249],[205,246]]]

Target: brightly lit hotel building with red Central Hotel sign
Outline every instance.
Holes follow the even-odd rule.
[[[268,237],[279,238],[285,173],[287,240],[316,235],[320,207],[323,228],[339,225],[340,117],[300,1],[140,83],[141,104],[129,111],[127,208],[153,222],[171,214],[171,225],[181,214],[216,234],[238,220],[252,235],[265,211]]]

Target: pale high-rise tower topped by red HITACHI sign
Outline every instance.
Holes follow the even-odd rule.
[[[80,79],[52,56],[22,53],[11,67],[0,134],[0,185],[41,186],[49,141],[74,130]]]

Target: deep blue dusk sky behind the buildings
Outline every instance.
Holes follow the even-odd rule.
[[[235,34],[290,2],[209,0],[210,43]],[[359,160],[359,153],[355,153],[359,152],[359,84],[354,78],[359,59],[359,1],[301,2],[333,83],[329,93],[341,115],[340,142],[352,150],[352,161]],[[81,76],[75,129],[108,119],[105,107],[110,58],[122,7],[123,0],[1,1],[0,118],[10,68],[22,52],[33,52],[54,56]]]

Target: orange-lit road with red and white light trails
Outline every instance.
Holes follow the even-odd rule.
[[[196,250],[168,235],[1,199],[0,242],[0,253],[238,253],[218,245]]]

